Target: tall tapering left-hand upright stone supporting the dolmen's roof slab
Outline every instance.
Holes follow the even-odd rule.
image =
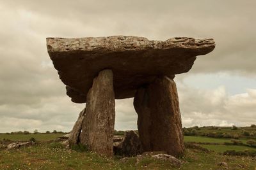
[[[94,78],[87,94],[80,142],[89,150],[103,155],[113,155],[113,133],[115,125],[115,94],[113,73],[109,69],[100,71]]]

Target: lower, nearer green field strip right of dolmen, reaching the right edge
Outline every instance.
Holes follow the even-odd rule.
[[[236,146],[236,145],[200,145],[208,150],[212,150],[215,152],[223,153],[227,150],[236,150],[236,151],[244,151],[244,150],[255,150],[256,148],[251,148],[249,146]]]

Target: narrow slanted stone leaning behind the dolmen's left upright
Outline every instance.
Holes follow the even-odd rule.
[[[68,138],[68,143],[69,145],[76,145],[77,143],[79,143],[79,136],[81,134],[82,131],[82,124],[84,121],[84,117],[85,117],[85,108],[83,111],[80,112],[79,117],[77,118],[77,121],[72,129],[72,131],[70,132],[69,138]]]

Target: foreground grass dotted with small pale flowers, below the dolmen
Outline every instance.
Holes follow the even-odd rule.
[[[179,169],[221,169],[219,162],[227,162],[229,169],[255,169],[252,157],[204,153],[186,150]],[[92,152],[76,152],[65,148],[51,147],[50,144],[34,145],[19,150],[0,150],[0,169],[178,169],[166,161],[144,158],[136,164],[130,157],[122,162],[120,157],[106,158]]]

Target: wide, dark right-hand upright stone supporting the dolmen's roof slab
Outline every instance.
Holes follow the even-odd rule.
[[[174,156],[184,152],[179,98],[172,79],[161,76],[141,87],[134,108],[143,152],[166,151]]]

